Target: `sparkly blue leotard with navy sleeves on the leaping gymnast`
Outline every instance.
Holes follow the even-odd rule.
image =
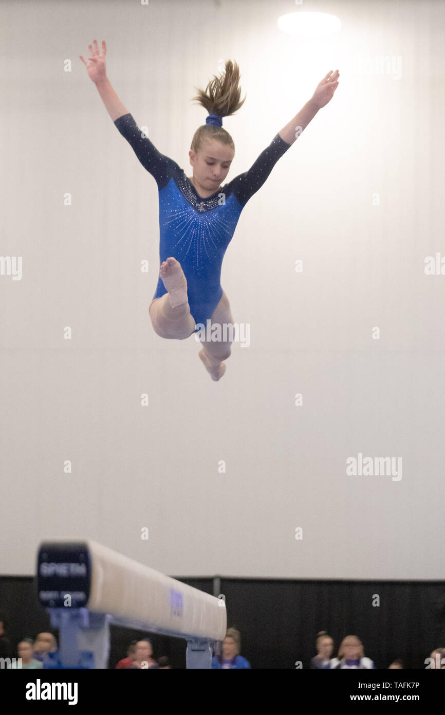
[[[206,320],[221,300],[222,260],[241,211],[291,144],[276,134],[249,171],[203,198],[184,169],[156,149],[130,113],[123,114],[114,124],[158,184],[160,263],[169,256],[180,262],[187,279],[191,315],[196,326],[206,326]],[[154,298],[164,293],[166,288],[159,277]],[[199,329],[195,327],[194,332]]]

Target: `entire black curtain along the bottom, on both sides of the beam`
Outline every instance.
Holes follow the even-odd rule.
[[[213,593],[211,578],[180,581]],[[444,581],[290,581],[221,578],[228,626],[241,631],[241,655],[255,669],[309,668],[318,631],[334,638],[334,655],[347,635],[359,636],[376,668],[396,657],[407,668],[424,669],[431,651],[445,647]],[[25,636],[51,631],[49,615],[38,603],[32,577],[0,577],[0,611],[14,647]],[[379,606],[373,606],[375,594]],[[185,667],[185,641],[111,626],[110,667],[126,657],[130,641],[149,636],[154,656]]]

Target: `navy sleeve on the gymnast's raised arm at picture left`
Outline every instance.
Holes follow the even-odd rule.
[[[156,179],[159,189],[163,189],[176,172],[181,172],[179,165],[173,159],[161,154],[150,139],[141,132],[132,114],[122,114],[114,124],[134,149],[144,169]]]

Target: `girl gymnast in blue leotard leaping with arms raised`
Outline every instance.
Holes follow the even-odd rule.
[[[142,166],[152,174],[159,192],[159,280],[149,306],[151,324],[157,335],[184,338],[198,332],[199,357],[212,380],[226,371],[231,340],[206,340],[221,326],[221,336],[229,338],[224,325],[233,323],[229,300],[221,287],[224,253],[234,235],[241,211],[264,184],[278,159],[334,96],[339,71],[329,71],[321,79],[309,102],[275,135],[250,169],[228,184],[224,181],[235,155],[229,132],[222,127],[244,104],[240,100],[239,66],[227,60],[224,71],[199,89],[193,99],[208,112],[206,124],[196,129],[189,151],[192,176],[186,177],[173,159],[161,154],[141,132],[121,103],[106,77],[106,43],[99,51],[97,40],[89,45],[88,61],[80,55],[90,79],[96,84],[117,129],[133,147]],[[202,331],[210,320],[210,330]],[[216,334],[218,334],[216,332]]]

